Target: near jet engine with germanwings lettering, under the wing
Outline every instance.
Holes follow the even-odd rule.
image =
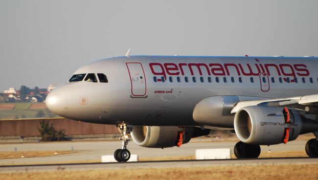
[[[304,118],[295,109],[250,106],[236,112],[234,129],[244,143],[272,145],[317,131],[318,121]]]

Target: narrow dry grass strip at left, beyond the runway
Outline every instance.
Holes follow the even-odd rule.
[[[56,154],[55,154],[56,153]],[[34,157],[46,157],[56,156],[63,154],[75,153],[74,151],[18,151],[18,152],[0,152],[0,159],[7,158],[34,158]]]

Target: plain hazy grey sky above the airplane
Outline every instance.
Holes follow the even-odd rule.
[[[0,91],[132,55],[318,56],[318,0],[0,0]]]

